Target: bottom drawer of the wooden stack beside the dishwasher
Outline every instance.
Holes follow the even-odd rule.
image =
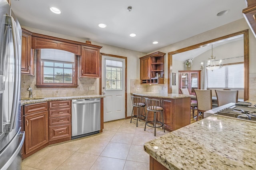
[[[71,123],[49,127],[49,140],[56,140],[71,136]]]

